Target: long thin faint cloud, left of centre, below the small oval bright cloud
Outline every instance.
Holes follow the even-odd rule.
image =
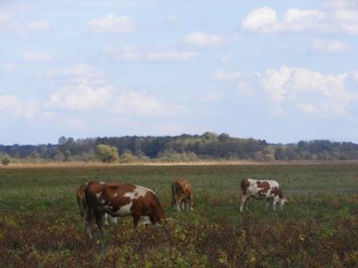
[[[181,62],[192,60],[198,56],[193,51],[166,49],[145,52],[133,46],[123,46],[121,48],[107,46],[104,48],[104,52],[113,55],[115,59],[120,61]]]

